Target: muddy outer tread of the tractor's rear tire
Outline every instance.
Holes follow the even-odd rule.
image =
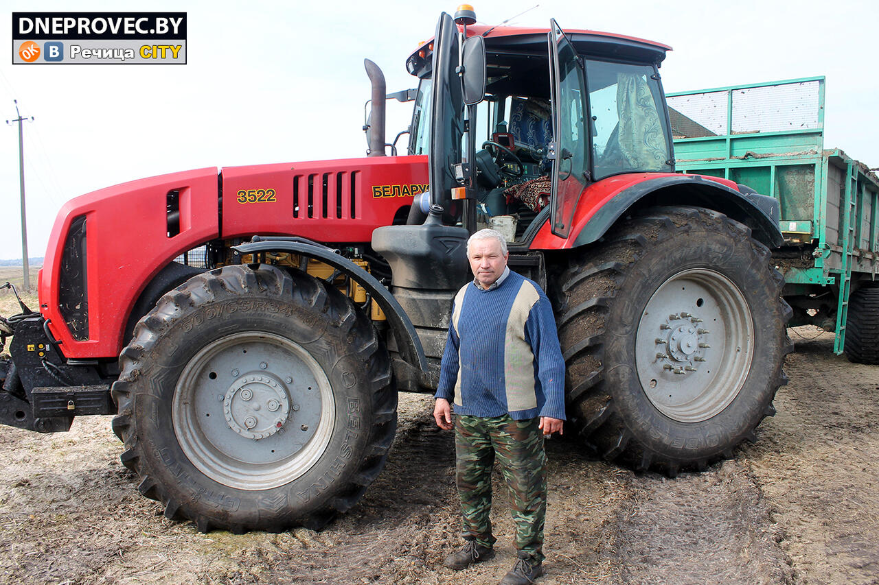
[[[681,469],[701,470],[717,459],[730,458],[733,454],[732,447],[724,445],[711,457],[687,460],[651,451],[634,436],[622,420],[621,413],[614,404],[612,392],[606,387],[603,364],[604,340],[607,336],[605,321],[614,302],[618,301],[621,283],[632,270],[632,266],[651,246],[665,242],[681,231],[691,230],[694,226],[707,230],[723,230],[738,240],[750,240],[754,252],[754,268],[766,270],[766,282],[774,287],[778,299],[778,306],[774,310],[783,331],[781,354],[787,355],[793,350],[793,344],[783,324],[789,320],[791,310],[781,298],[784,279],[771,264],[770,250],[752,238],[749,227],[709,209],[686,206],[655,207],[646,210],[642,215],[623,220],[619,227],[605,236],[600,248],[593,248],[588,254],[570,258],[568,267],[558,278],[559,284],[551,293],[558,315],[563,357],[568,368],[566,400],[570,418],[578,427],[579,436],[587,447],[597,448],[604,459],[619,459],[638,471],[656,469],[670,477]],[[879,289],[876,291],[879,292]],[[879,296],[876,297],[876,307],[879,307]],[[579,318],[585,313],[589,313],[592,318]],[[879,319],[876,327],[879,329]],[[772,399],[777,387],[787,382],[781,364],[771,379],[775,380],[774,389],[768,402],[761,408],[759,420],[774,415]],[[753,436],[753,431],[750,430],[738,437],[737,442],[750,440]]]

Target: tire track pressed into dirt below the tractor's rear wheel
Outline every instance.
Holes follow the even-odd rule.
[[[601,556],[623,583],[792,583],[772,507],[747,461],[666,480],[628,480]]]

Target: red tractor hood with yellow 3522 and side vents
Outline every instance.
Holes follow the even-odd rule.
[[[426,190],[426,156],[389,156],[187,170],[87,193],[55,219],[41,312],[66,355],[118,356],[143,287],[186,251],[253,235],[366,243]]]

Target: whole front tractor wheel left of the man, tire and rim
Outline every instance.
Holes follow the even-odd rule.
[[[301,271],[191,278],[138,322],[120,368],[122,462],[200,531],[319,530],[360,499],[396,430],[371,322]]]

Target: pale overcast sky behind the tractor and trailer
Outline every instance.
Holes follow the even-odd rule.
[[[497,25],[534,2],[476,2]],[[43,256],[62,203],[176,170],[364,155],[369,82],[415,85],[405,59],[430,38],[435,0],[329,2],[9,2],[0,22],[0,120],[25,123],[28,251]],[[12,11],[186,11],[188,63],[11,65]],[[826,76],[825,148],[879,166],[879,3],[699,0],[541,1],[510,25],[618,32],[673,47],[665,90]],[[410,105],[389,112],[389,139]],[[405,112],[405,113],[404,113]],[[0,258],[21,257],[18,131],[0,134]]]

